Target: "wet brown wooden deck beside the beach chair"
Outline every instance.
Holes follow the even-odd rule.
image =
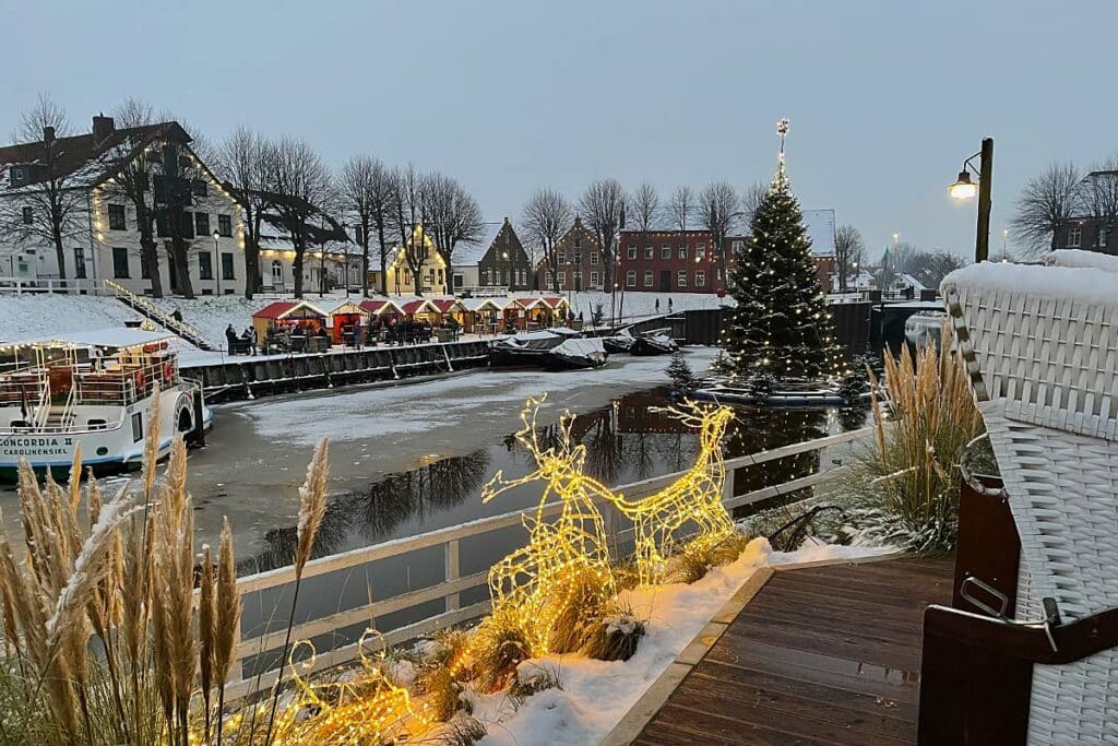
[[[916,743],[923,608],[951,563],[774,573],[634,743]]]

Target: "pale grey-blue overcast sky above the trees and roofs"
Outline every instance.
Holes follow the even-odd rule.
[[[84,129],[133,96],[216,140],[438,169],[515,220],[601,177],[767,182],[786,116],[802,206],[870,256],[894,234],[973,254],[976,207],[946,187],[992,136],[996,254],[1027,178],[1118,152],[1116,20],[1114,0],[0,0],[0,132],[39,93]]]

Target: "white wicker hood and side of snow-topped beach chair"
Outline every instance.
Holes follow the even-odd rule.
[[[1118,607],[1118,261],[1076,254],[941,287],[1021,538],[1015,617],[1050,624]],[[1118,650],[1034,665],[1027,738],[1118,740]]]

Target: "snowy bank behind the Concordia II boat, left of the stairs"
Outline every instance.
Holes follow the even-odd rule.
[[[121,328],[125,321],[142,319],[112,298],[56,293],[0,295],[0,342]]]

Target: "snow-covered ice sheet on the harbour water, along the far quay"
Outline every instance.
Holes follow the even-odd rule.
[[[704,371],[718,355],[717,348],[684,348],[688,363],[695,374]],[[549,404],[572,404],[587,387],[624,381],[667,385],[665,369],[670,358],[614,356],[601,368],[566,372],[539,370],[480,370],[406,386],[381,388],[353,387],[321,394],[304,393],[299,398],[269,400],[264,406],[238,407],[253,419],[257,433],[266,438],[295,445],[313,446],[322,437],[334,441],[391,438],[406,433],[430,429],[433,423],[447,422],[464,413],[472,416],[479,432],[484,416],[476,414],[479,402],[491,413],[519,412],[529,396],[551,391]],[[466,396],[459,396],[461,394]],[[329,402],[322,397],[329,396]],[[496,431],[503,432],[503,431]]]

